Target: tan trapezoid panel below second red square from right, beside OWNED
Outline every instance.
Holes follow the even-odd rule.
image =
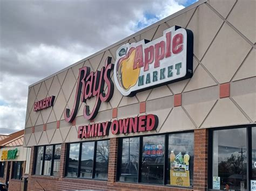
[[[169,117],[166,119],[161,131],[177,131],[196,128],[181,107],[172,109]]]

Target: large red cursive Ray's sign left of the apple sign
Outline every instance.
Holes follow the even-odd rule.
[[[84,118],[89,120],[96,117],[102,102],[110,101],[114,91],[114,84],[110,76],[112,69],[113,64],[111,63],[111,57],[107,57],[105,66],[102,67],[100,71],[90,72],[90,67],[87,66],[79,69],[75,103],[71,112],[68,108],[64,111],[66,122],[71,123],[73,119],[75,119],[80,101],[86,102],[86,100],[96,97],[96,103],[93,108],[90,108],[89,105],[84,106]],[[107,93],[104,91],[105,83]]]

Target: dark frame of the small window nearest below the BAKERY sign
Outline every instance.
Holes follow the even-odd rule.
[[[36,146],[35,158],[34,158],[34,164],[33,164],[33,175],[37,175],[37,176],[54,176],[53,175],[53,165],[54,165],[54,155],[55,155],[55,146],[56,145],[60,145],[60,148],[61,148],[62,144],[40,145],[40,146],[44,147],[42,170],[41,170],[40,174],[36,174],[36,161],[37,161],[37,154],[38,154],[38,147],[39,147],[39,146]],[[50,172],[50,175],[45,175],[44,174],[44,163],[45,163],[46,146],[52,146],[51,172]],[[58,176],[54,176],[54,177],[58,177]]]

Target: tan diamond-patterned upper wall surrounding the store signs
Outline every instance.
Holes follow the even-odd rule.
[[[139,103],[146,101],[146,114],[159,117],[157,130],[146,133],[255,124],[255,1],[201,1],[31,86],[24,146],[79,141],[78,126],[90,123],[83,117],[85,104],[80,103],[75,126],[64,120],[64,109],[72,108],[75,100],[78,69],[89,66],[95,71],[104,65],[107,56],[111,56],[114,63],[120,45],[159,38],[173,25],[193,32],[193,77],[143,91],[134,97],[122,96],[115,87],[110,102],[100,105],[94,123],[113,120],[112,108],[118,108],[118,119],[138,116]],[[230,97],[219,98],[222,83],[230,83]],[[173,107],[174,94],[182,94],[181,107]],[[33,111],[35,101],[51,95],[56,96],[52,108]],[[87,100],[91,107],[94,103],[95,98]],[[57,121],[60,121],[59,129],[56,129]],[[46,131],[43,131],[43,124],[47,126]],[[35,133],[32,133],[32,126],[35,126]],[[111,132],[104,138],[110,137],[113,137]]]

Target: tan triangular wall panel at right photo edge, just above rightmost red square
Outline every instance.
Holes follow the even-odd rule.
[[[235,75],[233,81],[245,79],[247,77],[256,76],[256,50],[253,49],[250,54],[245,59],[244,63],[242,63],[241,68],[238,70]]]

